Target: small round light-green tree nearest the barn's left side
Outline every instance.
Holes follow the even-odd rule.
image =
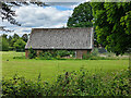
[[[26,42],[23,39],[17,39],[14,42],[13,47],[14,47],[14,49],[16,49],[16,51],[23,51],[25,48],[25,45],[26,45]]]

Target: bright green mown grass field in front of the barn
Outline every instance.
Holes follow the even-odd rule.
[[[45,81],[52,81],[58,74],[71,72],[84,68],[92,73],[107,75],[110,72],[126,70],[129,60],[29,60],[13,59],[22,57],[24,52],[0,52],[2,53],[2,76],[10,78],[14,74],[29,79],[38,77],[39,73]]]

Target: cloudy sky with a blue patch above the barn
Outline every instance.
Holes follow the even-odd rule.
[[[59,0],[60,1],[60,0]],[[15,20],[21,26],[15,26],[0,19],[0,26],[14,30],[12,33],[0,32],[1,34],[13,35],[29,34],[32,28],[60,28],[67,27],[69,16],[73,9],[86,0],[76,0],[75,2],[46,2],[49,7],[37,7],[34,4],[12,8],[16,15]]]

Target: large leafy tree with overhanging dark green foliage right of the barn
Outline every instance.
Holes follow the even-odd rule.
[[[93,2],[98,42],[108,51],[123,54],[131,48],[131,2]]]

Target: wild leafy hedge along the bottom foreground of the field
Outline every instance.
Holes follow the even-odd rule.
[[[12,79],[2,79],[3,97],[43,97],[43,96],[130,96],[129,70],[100,76],[80,71],[58,75],[53,84],[27,81],[15,75]]]

